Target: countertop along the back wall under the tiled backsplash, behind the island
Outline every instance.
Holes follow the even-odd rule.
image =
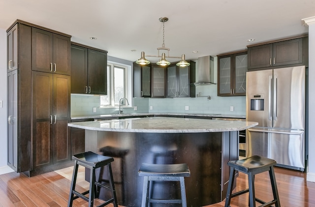
[[[195,117],[213,117],[213,118],[246,118],[245,115],[229,114],[199,114],[199,113],[141,113],[141,114],[105,114],[105,115],[82,115],[71,116],[72,120],[86,118],[119,118],[119,117],[136,117],[136,116],[195,116]]]

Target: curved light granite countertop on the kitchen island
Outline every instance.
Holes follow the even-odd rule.
[[[68,126],[119,132],[148,132],[148,133],[200,133],[240,131],[257,125],[252,121],[212,120],[198,118],[125,118],[100,121],[81,121],[68,123]]]

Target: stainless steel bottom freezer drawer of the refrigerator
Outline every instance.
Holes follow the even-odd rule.
[[[304,130],[252,127],[247,130],[246,156],[260,155],[282,167],[304,171]]]

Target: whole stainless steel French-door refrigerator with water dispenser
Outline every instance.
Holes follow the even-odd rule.
[[[260,155],[278,166],[305,169],[305,66],[247,72],[246,156]]]

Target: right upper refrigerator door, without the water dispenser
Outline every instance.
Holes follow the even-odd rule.
[[[273,127],[305,129],[305,66],[274,69]]]

